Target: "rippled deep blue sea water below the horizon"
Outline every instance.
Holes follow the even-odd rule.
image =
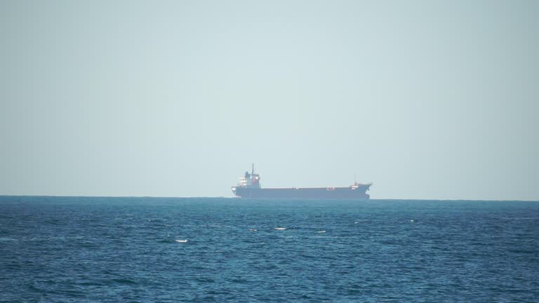
[[[0,302],[322,301],[539,302],[539,202],[0,196]]]

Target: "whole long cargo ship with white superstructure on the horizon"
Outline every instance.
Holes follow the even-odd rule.
[[[234,195],[240,198],[319,198],[319,199],[354,199],[367,200],[366,194],[372,183],[360,184],[354,181],[349,187],[290,187],[262,188],[260,175],[255,174],[255,166],[251,173],[245,172],[239,183],[232,187]]]

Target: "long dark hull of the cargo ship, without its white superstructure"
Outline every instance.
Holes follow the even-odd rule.
[[[258,189],[234,187],[232,191],[241,198],[323,198],[323,199],[356,199],[367,200],[368,186],[351,189],[350,187],[319,188],[284,188]]]

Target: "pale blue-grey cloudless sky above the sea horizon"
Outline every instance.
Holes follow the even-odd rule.
[[[539,1],[0,1],[0,194],[539,200]]]

